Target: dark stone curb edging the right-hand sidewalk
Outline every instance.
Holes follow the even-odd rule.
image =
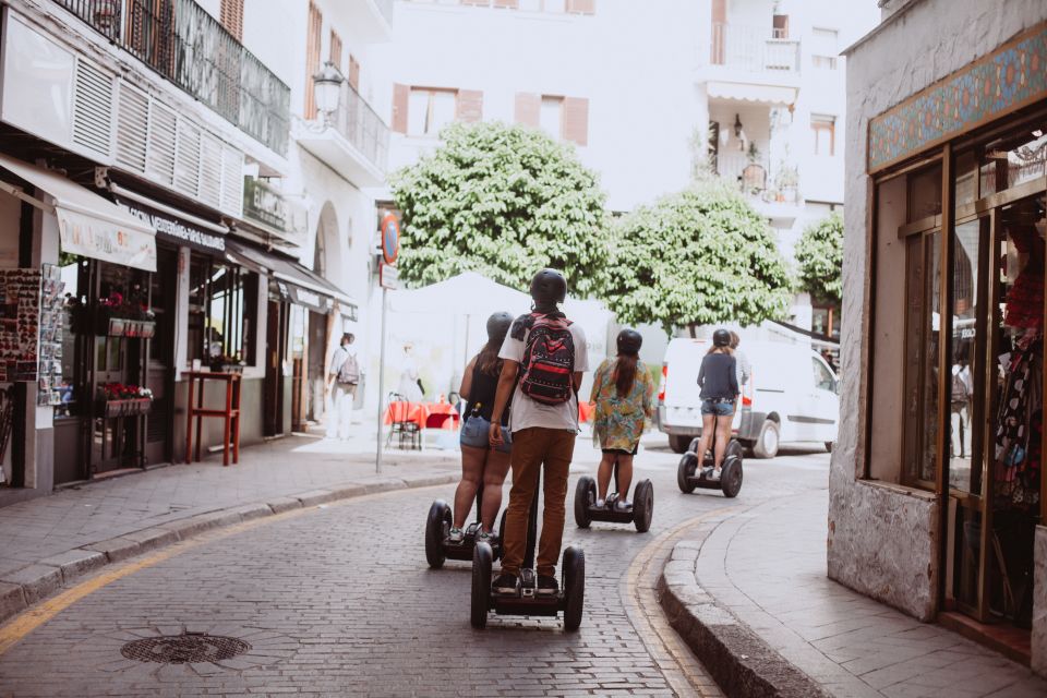
[[[673,547],[658,579],[658,593],[669,624],[723,693],[732,698],[829,698],[819,684],[698,586],[695,569],[701,543],[688,540]]]

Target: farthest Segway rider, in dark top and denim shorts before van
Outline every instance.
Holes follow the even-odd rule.
[[[709,450],[710,440],[715,432],[713,448],[712,478],[720,477],[723,454],[731,440],[731,422],[734,419],[738,399],[737,361],[731,352],[731,333],[718,329],[712,333],[712,347],[701,359],[698,371],[698,385],[701,386],[701,440],[698,442],[698,462],[702,462]]]

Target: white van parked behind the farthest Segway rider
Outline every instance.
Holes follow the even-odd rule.
[[[701,435],[698,371],[709,350],[707,339],[677,337],[669,342],[658,394],[658,428],[669,435],[676,453],[687,450]],[[741,409],[733,430],[757,458],[773,458],[781,443],[837,441],[840,398],[837,376],[809,347],[785,342],[743,341],[741,351],[751,365],[742,386]]]

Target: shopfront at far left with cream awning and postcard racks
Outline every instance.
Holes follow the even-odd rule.
[[[0,382],[14,397],[3,480],[48,492],[141,467],[155,230],[59,172],[0,156],[0,177],[20,202],[2,281]]]

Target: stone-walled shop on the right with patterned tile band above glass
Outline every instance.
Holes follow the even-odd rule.
[[[875,98],[849,117],[868,136],[849,146],[829,574],[1043,667],[1047,9],[891,103],[874,63],[911,45],[917,64],[943,5],[850,49],[850,104]]]

